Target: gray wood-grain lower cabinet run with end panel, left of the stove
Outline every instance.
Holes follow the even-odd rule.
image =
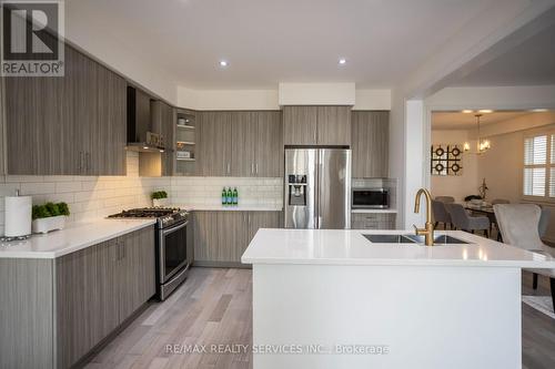
[[[0,259],[0,368],[69,368],[154,295],[154,228],[57,259]]]

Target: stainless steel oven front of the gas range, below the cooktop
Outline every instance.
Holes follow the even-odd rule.
[[[158,233],[158,298],[164,300],[189,273],[191,255],[188,255],[189,219],[161,227]]]

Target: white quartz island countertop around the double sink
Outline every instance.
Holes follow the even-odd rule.
[[[448,234],[470,244],[421,246],[371,243],[364,234],[411,230],[259,229],[241,257],[244,264],[486,266],[555,268],[555,259],[461,230]]]

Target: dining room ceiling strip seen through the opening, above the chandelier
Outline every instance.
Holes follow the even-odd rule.
[[[488,125],[503,121],[508,121],[517,116],[526,114],[536,114],[527,111],[519,112],[493,112],[483,114],[480,117],[481,125]],[[476,116],[462,112],[433,112],[432,129],[433,130],[472,130],[477,127]]]

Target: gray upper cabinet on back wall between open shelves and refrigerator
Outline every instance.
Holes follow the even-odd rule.
[[[198,175],[282,175],[281,112],[199,112],[196,123]]]

